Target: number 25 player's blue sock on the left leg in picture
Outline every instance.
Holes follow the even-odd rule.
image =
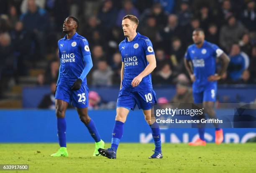
[[[59,146],[67,147],[66,145],[66,120],[65,118],[57,118]]]

